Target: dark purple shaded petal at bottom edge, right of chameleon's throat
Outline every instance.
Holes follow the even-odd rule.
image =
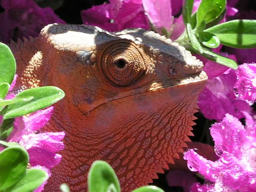
[[[184,192],[189,192],[191,185],[196,182],[195,176],[187,172],[185,170],[170,170],[167,175],[166,179],[168,185],[171,187],[180,186],[183,188]]]

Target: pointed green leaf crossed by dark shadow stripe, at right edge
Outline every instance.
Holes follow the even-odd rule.
[[[215,34],[226,46],[240,49],[256,47],[256,20],[231,20],[204,31]]]

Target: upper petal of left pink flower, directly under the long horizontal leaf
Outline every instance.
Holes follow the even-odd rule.
[[[24,116],[23,121],[26,126],[27,134],[34,131],[38,131],[44,125],[46,125],[50,120],[50,117],[53,113],[53,109],[54,107],[50,106],[49,108],[39,110],[28,117]]]

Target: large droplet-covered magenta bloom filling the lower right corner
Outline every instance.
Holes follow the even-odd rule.
[[[194,184],[191,192],[256,192],[256,124],[246,131],[237,118],[226,114],[210,131],[218,161],[207,160],[192,149],[184,155],[188,168],[206,180],[204,185]]]

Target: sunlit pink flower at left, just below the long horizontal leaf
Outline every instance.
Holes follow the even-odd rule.
[[[26,148],[30,156],[30,165],[45,166],[52,169],[61,160],[61,155],[56,152],[64,148],[61,140],[64,132],[37,133],[48,123],[53,112],[53,107],[39,110],[29,117],[15,118],[14,130],[7,138],[8,142],[18,142]]]

